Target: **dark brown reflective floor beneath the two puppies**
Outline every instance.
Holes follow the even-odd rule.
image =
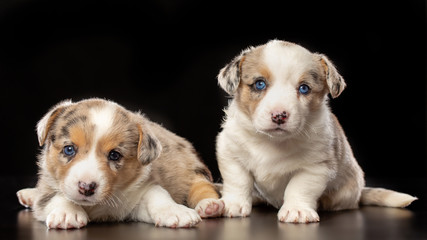
[[[31,211],[8,209],[1,216],[0,239],[427,239],[426,187],[417,187],[425,185],[425,181],[420,181],[408,181],[416,184],[407,188],[395,187],[418,189],[411,193],[420,199],[407,209],[362,207],[321,212],[320,223],[315,224],[279,223],[275,209],[258,206],[249,218],[208,219],[192,229],[131,222],[90,223],[80,230],[47,230],[43,223],[33,219]]]

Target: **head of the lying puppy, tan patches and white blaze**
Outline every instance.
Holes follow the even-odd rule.
[[[145,180],[147,165],[160,155],[147,121],[110,101],[59,103],[37,125],[40,174],[77,204],[111,204]]]

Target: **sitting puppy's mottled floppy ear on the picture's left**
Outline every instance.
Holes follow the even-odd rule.
[[[245,60],[245,55],[251,50],[252,48],[244,50],[239,56],[235,57],[219,71],[218,84],[231,96],[234,95],[239,86],[242,63]]]

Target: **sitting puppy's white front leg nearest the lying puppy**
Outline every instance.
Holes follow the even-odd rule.
[[[224,181],[221,200],[224,201],[226,217],[247,217],[252,210],[254,180],[240,163],[218,158]]]

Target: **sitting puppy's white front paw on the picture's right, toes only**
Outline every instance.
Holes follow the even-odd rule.
[[[319,222],[319,214],[311,208],[287,207],[283,205],[277,214],[279,221],[286,223]]]

